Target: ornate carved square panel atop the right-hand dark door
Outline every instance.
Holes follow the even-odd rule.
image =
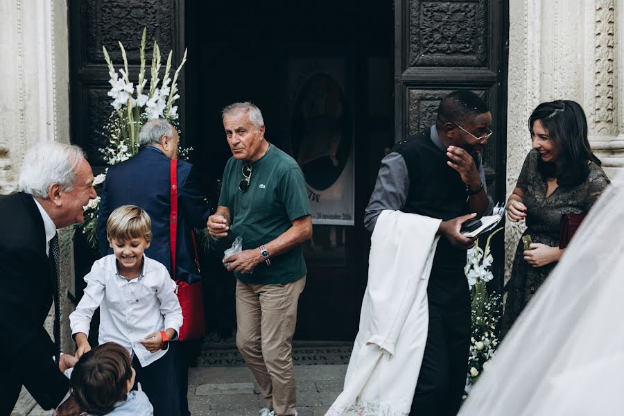
[[[487,1],[410,1],[410,67],[486,67]]]

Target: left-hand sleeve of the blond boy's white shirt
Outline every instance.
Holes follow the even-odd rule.
[[[69,315],[69,327],[71,328],[71,338],[76,333],[83,332],[89,336],[89,327],[91,326],[91,318],[94,311],[100,306],[105,295],[105,284],[102,269],[98,262],[94,263],[89,272],[85,276],[87,288],[82,299],[76,306],[76,311]]]

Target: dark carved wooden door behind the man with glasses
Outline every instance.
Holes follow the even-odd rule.
[[[476,92],[492,110],[483,162],[495,202],[505,200],[508,10],[508,0],[395,0],[395,141],[432,125],[449,92]]]

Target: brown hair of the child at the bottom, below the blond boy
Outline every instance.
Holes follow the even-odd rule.
[[[125,401],[132,379],[130,354],[119,344],[105,343],[80,357],[71,373],[71,395],[83,412],[106,415]]]

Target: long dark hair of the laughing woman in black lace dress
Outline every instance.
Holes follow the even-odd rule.
[[[560,167],[555,162],[537,159],[541,177],[557,177],[557,184],[575,187],[582,184],[589,174],[587,162],[600,166],[600,159],[591,152],[587,139],[587,119],[582,107],[575,101],[557,100],[541,103],[533,110],[528,121],[529,132],[533,124],[541,121],[553,145],[560,150]]]

